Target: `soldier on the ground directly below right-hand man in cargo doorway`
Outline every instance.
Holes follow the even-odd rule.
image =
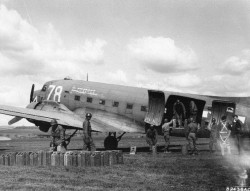
[[[188,124],[188,142],[191,149],[190,154],[198,154],[196,147],[198,124],[193,118],[190,118],[190,123]]]

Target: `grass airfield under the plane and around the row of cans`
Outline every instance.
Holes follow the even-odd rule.
[[[17,130],[17,131],[20,131]],[[13,133],[13,131],[12,131]],[[102,136],[94,137],[102,149]],[[48,138],[23,138],[0,142],[0,154],[10,151],[48,149]],[[0,190],[226,190],[236,186],[238,173],[220,153],[210,154],[207,139],[198,140],[198,156],[182,155],[172,138],[173,151],[152,156],[143,137],[129,135],[120,142],[124,164],[112,167],[8,167],[0,168]],[[72,140],[71,150],[81,149],[81,138]],[[160,139],[159,144],[163,144]],[[141,148],[136,155],[127,151],[130,145]],[[234,157],[237,157],[233,153]],[[234,160],[237,163],[237,160]],[[247,185],[250,185],[247,180]]]

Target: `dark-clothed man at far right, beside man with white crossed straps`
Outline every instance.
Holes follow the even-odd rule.
[[[234,123],[232,128],[232,136],[235,137],[235,145],[240,154],[241,152],[241,133],[242,133],[242,122],[238,119],[238,115],[234,115]]]

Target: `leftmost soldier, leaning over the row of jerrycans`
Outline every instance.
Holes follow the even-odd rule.
[[[65,143],[65,129],[57,124],[55,119],[52,119],[51,122],[51,143],[50,150],[51,151],[66,151],[66,143]]]

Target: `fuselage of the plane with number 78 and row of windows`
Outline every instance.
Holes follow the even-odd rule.
[[[124,129],[119,130],[124,132],[145,132],[145,124],[160,127],[164,118],[170,120],[174,117],[174,104],[180,100],[186,113],[183,125],[173,128],[172,134],[176,135],[184,135],[184,119],[191,116],[190,102],[193,102],[197,107],[196,120],[201,124],[200,137],[209,136],[207,126],[211,117],[219,122],[221,116],[226,115],[232,122],[233,114],[240,117],[244,132],[249,133],[249,97],[205,96],[81,80],[55,80],[45,83],[41,90],[36,91],[34,99],[59,102],[82,118],[86,112],[92,112],[93,117],[95,114],[98,119],[103,117],[106,126],[118,126],[124,118],[120,122]],[[104,131],[109,131],[105,127]]]

